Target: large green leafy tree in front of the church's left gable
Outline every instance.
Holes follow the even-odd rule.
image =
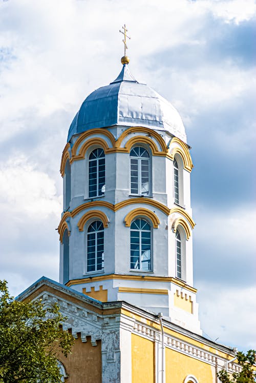
[[[60,382],[57,356],[73,345],[65,319],[56,304],[14,300],[0,280],[0,383]]]

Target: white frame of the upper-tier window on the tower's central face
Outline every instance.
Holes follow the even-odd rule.
[[[147,154],[148,154],[148,157],[135,157],[135,156],[131,156],[131,152],[135,149],[135,148],[142,148],[144,149]],[[131,167],[131,159],[136,159],[138,161],[138,183],[137,183],[137,186],[138,186],[138,192],[137,193],[133,193],[132,192],[132,182],[131,182],[131,177],[132,177],[132,167]],[[146,193],[143,193],[142,192],[142,183],[141,183],[141,160],[147,160],[148,161],[148,191]],[[140,196],[146,196],[146,197],[149,197],[149,196],[152,196],[152,153],[151,153],[151,150],[150,148],[147,148],[145,147],[143,144],[136,144],[135,146],[133,146],[130,150],[130,153],[129,153],[129,166],[130,166],[130,179],[129,179],[129,182],[130,182],[130,195],[140,195]]]

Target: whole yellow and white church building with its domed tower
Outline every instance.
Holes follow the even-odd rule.
[[[200,327],[185,128],[121,62],[82,103],[62,153],[60,283],[42,277],[18,299],[67,316],[67,383],[218,383],[239,366]]]

